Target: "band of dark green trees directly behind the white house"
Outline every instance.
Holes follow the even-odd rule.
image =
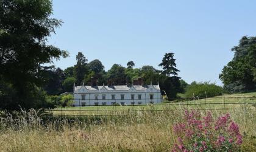
[[[142,77],[144,85],[160,85],[165,91],[167,97],[175,98],[177,92],[184,92],[185,81],[178,77],[179,70],[176,69],[176,63],[173,53],[166,53],[162,63],[159,64],[163,70],[157,70],[153,66],[142,66],[133,68],[135,63],[129,61],[127,67],[120,64],[113,64],[108,70],[104,70],[104,65],[98,59],[88,62],[82,52],[76,55],[76,64],[62,70],[59,67],[48,71],[48,83],[43,87],[49,95],[59,95],[63,92],[73,92],[73,84],[76,85],[128,85],[133,80]],[[91,84],[91,79],[95,81]],[[128,83],[128,84],[127,84]]]

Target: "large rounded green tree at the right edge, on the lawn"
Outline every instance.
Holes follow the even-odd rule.
[[[230,92],[256,89],[256,37],[243,36],[232,51],[235,52],[233,60],[219,74],[224,88]]]

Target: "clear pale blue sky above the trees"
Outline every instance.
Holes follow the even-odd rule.
[[[54,18],[62,27],[49,44],[68,50],[55,62],[76,64],[77,52],[99,59],[107,71],[113,64],[157,69],[173,52],[183,80],[212,81],[233,58],[230,50],[244,35],[255,36],[256,1],[82,1],[54,0]]]

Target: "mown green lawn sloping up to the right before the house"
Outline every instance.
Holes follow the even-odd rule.
[[[245,94],[225,94],[218,97],[201,100],[186,100],[184,102],[161,103],[156,105],[124,105],[124,106],[84,106],[55,108],[55,115],[112,115],[126,112],[174,110],[174,109],[255,109],[256,92]]]

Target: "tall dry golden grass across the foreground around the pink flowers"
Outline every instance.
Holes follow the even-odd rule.
[[[212,111],[215,118],[227,112],[243,133],[242,150],[256,151],[256,112],[246,107]],[[168,108],[81,118],[44,116],[31,109],[1,117],[0,151],[170,151],[171,127],[182,118],[183,111]]]

